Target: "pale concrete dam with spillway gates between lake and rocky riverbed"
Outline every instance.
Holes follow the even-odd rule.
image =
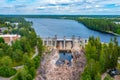
[[[77,48],[80,45],[85,47],[88,42],[87,39],[80,37],[72,36],[71,38],[66,38],[66,36],[64,36],[63,38],[58,38],[56,35],[55,37],[47,37],[42,40],[43,45],[55,47],[59,50],[71,50],[72,48]]]

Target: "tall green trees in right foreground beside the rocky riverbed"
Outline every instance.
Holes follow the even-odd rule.
[[[101,44],[99,38],[92,36],[89,38],[85,51],[87,65],[81,80],[101,80],[102,73],[117,66],[118,56],[120,56],[120,47],[116,38],[111,39],[109,44]]]

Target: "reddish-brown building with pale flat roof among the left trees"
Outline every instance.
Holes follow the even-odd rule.
[[[0,37],[4,39],[5,43],[7,43],[8,45],[12,45],[12,42],[16,41],[21,36],[17,34],[5,34],[5,35],[0,35]]]

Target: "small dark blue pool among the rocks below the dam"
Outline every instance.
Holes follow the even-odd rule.
[[[71,53],[59,53],[59,59],[56,61],[57,65],[61,65],[65,63],[65,60],[69,62],[69,66],[71,65],[72,54]]]

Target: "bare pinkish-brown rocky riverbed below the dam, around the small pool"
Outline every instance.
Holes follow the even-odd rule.
[[[84,70],[86,59],[84,53],[79,50],[73,51],[72,55],[71,66],[68,66],[69,61],[67,60],[65,60],[63,65],[56,65],[56,61],[59,59],[57,50],[45,55],[35,80],[79,80]]]

